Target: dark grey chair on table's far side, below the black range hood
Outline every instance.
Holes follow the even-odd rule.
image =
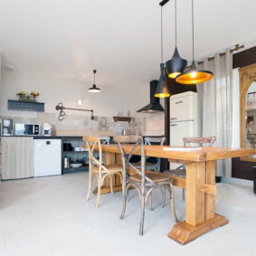
[[[166,141],[166,137],[145,137],[144,138],[144,141],[145,141],[145,145],[164,145],[165,141]],[[156,158],[156,163],[151,163],[151,162],[147,162],[147,159],[149,158],[149,156],[146,156],[146,163],[145,163],[145,168],[146,170],[148,171],[155,171],[155,172],[160,172],[160,161],[161,161],[161,158],[157,157]],[[150,157],[152,158],[152,157]],[[154,157],[155,158],[155,157]],[[141,166],[141,163],[140,161],[137,162],[137,163],[133,163],[133,165],[135,167],[140,167]]]

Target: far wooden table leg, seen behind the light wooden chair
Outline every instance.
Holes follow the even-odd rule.
[[[110,152],[104,152],[104,164],[105,165],[116,165],[117,162],[119,162],[119,156],[120,154],[116,153],[110,153]],[[119,175],[114,175],[113,177],[113,191],[121,191],[122,185],[120,183]],[[106,177],[104,180],[104,185],[101,186],[100,194],[108,194],[110,193],[110,180],[109,177]],[[93,194],[98,193],[98,187],[96,187],[93,192]]]

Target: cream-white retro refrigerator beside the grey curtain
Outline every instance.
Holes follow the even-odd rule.
[[[170,146],[183,146],[183,137],[198,137],[198,100],[194,91],[170,98]],[[176,166],[171,164],[171,168]]]

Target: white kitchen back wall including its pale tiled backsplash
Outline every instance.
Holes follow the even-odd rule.
[[[49,75],[40,71],[30,72],[14,67],[13,71],[2,65],[2,88],[0,88],[0,116],[12,118],[15,122],[43,123],[49,122],[57,129],[98,129],[99,121],[102,117],[112,118],[121,111],[123,116],[128,115],[135,118],[134,123],[113,123],[112,119],[107,119],[108,127],[117,133],[122,128],[140,128],[145,135],[164,134],[164,113],[143,114],[137,113],[149,103],[149,81],[134,88],[120,86],[110,87],[96,84],[100,87],[100,93],[90,93],[88,88],[91,83],[79,80],[71,80],[58,75]],[[38,91],[39,102],[45,103],[45,113],[27,112],[7,109],[7,100],[18,100],[16,93],[24,91]],[[77,100],[82,100],[82,106],[77,106]],[[66,118],[59,121],[59,111],[55,106],[62,102],[67,108],[93,109],[94,115],[99,117],[96,122],[91,122],[90,113],[82,111],[66,110]],[[164,100],[161,100],[164,106]],[[79,118],[78,116],[81,116]],[[88,119],[87,121],[83,121]],[[98,122],[97,122],[98,121]]]

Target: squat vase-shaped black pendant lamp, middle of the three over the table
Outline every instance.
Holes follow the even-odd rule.
[[[175,0],[175,52],[172,59],[166,62],[166,71],[168,77],[175,78],[177,75],[185,71],[187,61],[182,59],[177,49],[177,8]]]

